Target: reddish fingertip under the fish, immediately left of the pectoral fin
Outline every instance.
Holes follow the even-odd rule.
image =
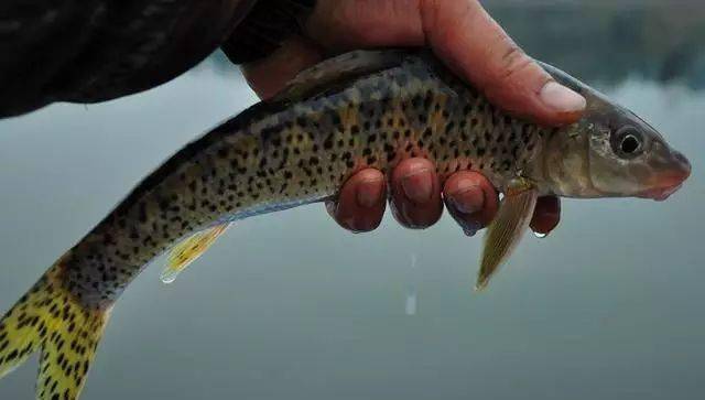
[[[468,236],[487,227],[499,207],[497,191],[492,184],[473,171],[451,175],[443,185],[443,199],[448,214]]]

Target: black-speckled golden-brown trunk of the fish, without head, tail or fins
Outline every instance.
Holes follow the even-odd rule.
[[[304,101],[254,106],[167,161],[66,260],[88,307],[111,304],[156,255],[215,223],[328,198],[356,171],[425,156],[497,186],[543,131],[492,107],[437,63],[409,56]]]

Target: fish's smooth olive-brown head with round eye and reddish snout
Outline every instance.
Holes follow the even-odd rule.
[[[546,143],[545,174],[556,194],[663,201],[691,174],[691,163],[649,123],[570,75],[550,67],[587,100],[582,119]]]

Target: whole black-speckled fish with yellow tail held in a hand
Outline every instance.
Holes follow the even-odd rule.
[[[687,160],[633,113],[566,74],[576,123],[505,115],[425,51],[354,52],[302,73],[271,101],[188,144],[62,256],[0,322],[0,375],[41,350],[39,399],[76,399],[110,310],[171,250],[171,281],[232,221],[336,195],[359,169],[425,156],[442,177],[479,171],[503,194],[478,287],[509,256],[541,195],[662,199]]]

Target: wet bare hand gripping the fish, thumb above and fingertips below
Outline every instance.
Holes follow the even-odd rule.
[[[585,99],[555,83],[477,0],[318,0],[304,32],[305,36],[290,39],[269,57],[245,66],[260,97],[273,96],[300,71],[329,54],[427,45],[490,101],[516,116],[557,126],[574,122],[585,108]],[[487,226],[498,208],[497,192],[481,174],[460,171],[441,182],[425,159],[402,161],[390,185],[380,171],[359,171],[327,208],[346,229],[372,230],[382,219],[389,190],[393,215],[403,226],[435,224],[445,203],[467,234]],[[558,199],[543,197],[531,228],[549,234],[558,219]]]

